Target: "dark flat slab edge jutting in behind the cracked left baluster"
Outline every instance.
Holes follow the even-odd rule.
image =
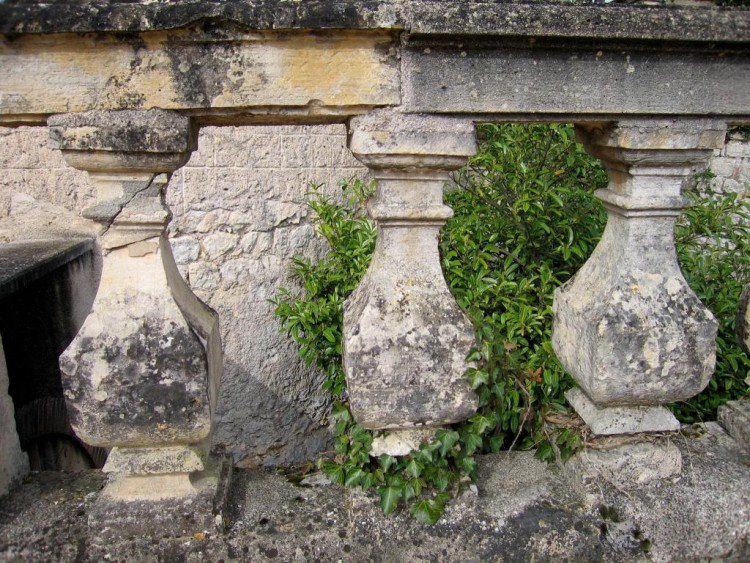
[[[0,299],[94,248],[92,239],[44,239],[0,244]]]

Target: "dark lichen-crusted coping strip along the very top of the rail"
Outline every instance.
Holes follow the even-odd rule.
[[[677,41],[750,40],[750,11],[670,5],[597,5],[526,0],[6,0],[0,33],[138,32],[211,20],[252,29],[403,29],[415,34],[487,34]]]

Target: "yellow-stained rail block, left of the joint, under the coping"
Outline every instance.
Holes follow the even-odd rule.
[[[360,113],[400,103],[397,43],[379,31],[0,36],[0,116],[254,107]]]

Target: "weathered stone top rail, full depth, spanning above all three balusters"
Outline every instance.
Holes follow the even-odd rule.
[[[162,108],[198,123],[750,121],[750,11],[526,1],[0,3],[0,123]]]

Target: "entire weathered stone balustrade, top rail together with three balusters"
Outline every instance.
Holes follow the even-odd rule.
[[[473,153],[477,121],[574,122],[607,167],[607,230],[555,298],[554,346],[580,385],[569,399],[594,433],[673,431],[663,404],[708,383],[716,322],[679,272],[672,227],[684,181],[728,124],[750,122],[750,12],[59,6],[0,3],[0,123],[46,124],[98,193],[82,212],[101,225],[102,282],[61,358],[76,430],[113,448],[95,521],[132,524],[138,505],[181,534],[159,514],[185,503],[204,518],[217,511],[207,439],[218,321],[164,235],[164,187],[204,124],[348,123],[352,153],[378,181],[375,257],[345,309],[349,398],[364,426],[410,432],[475,408],[463,379],[473,332],[442,277],[437,235],[451,215],[443,183]],[[679,469],[674,448],[659,455],[665,476]]]

